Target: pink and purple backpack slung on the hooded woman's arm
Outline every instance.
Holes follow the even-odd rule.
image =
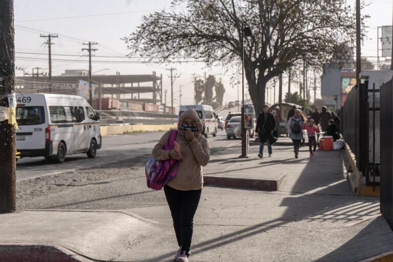
[[[170,131],[168,144],[165,145],[165,150],[171,150],[174,147],[174,141],[177,136],[178,130],[175,129]],[[147,187],[154,190],[160,190],[176,176],[178,164],[179,162],[173,159],[156,160],[155,158],[150,158],[145,165]]]

